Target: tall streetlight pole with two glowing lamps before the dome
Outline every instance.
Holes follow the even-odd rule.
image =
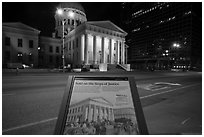
[[[64,10],[63,9],[61,9],[61,8],[57,9],[56,13],[58,15],[62,16],[62,18],[63,18],[63,16],[64,16]],[[69,11],[67,15],[68,15],[68,17],[73,18],[74,17],[74,12]],[[62,66],[63,66],[63,72],[65,72],[65,70],[64,70],[64,67],[65,67],[64,25],[65,25],[65,20],[63,18],[63,20],[62,20]]]

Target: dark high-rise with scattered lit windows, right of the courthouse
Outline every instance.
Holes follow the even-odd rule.
[[[122,3],[128,63],[136,69],[201,68],[202,3]]]

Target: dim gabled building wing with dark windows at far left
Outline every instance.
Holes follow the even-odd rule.
[[[2,64],[20,63],[38,67],[40,31],[20,22],[2,23]]]

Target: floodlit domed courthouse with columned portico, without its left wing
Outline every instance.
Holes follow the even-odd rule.
[[[55,22],[56,36],[62,38],[64,32],[65,65],[74,68],[82,64],[125,66],[127,33],[111,21],[87,21],[80,3],[60,3]]]

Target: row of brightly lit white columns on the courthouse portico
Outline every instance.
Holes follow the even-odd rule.
[[[93,34],[80,36],[80,54],[79,62],[85,64],[125,64],[126,59],[124,41]]]

